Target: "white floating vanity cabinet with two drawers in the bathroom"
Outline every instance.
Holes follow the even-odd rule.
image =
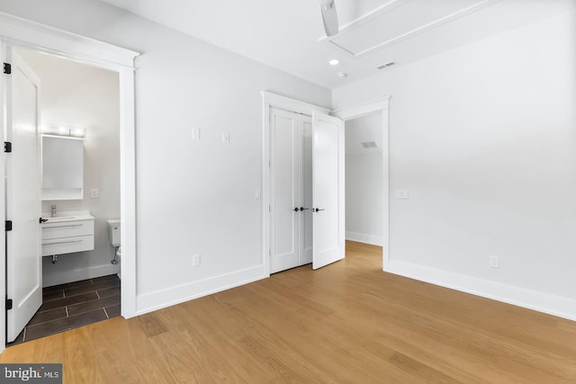
[[[46,217],[42,223],[42,256],[94,249],[94,217],[89,214]]]

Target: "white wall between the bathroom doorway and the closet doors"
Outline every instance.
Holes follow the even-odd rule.
[[[4,0],[0,11],[142,53],[137,311],[263,277],[260,91],[320,106],[330,106],[330,91],[98,1]],[[198,267],[193,254],[202,255]]]

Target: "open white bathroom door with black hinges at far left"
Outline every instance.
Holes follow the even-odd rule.
[[[12,73],[6,80],[6,311],[8,343],[14,341],[42,304],[40,245],[40,79],[6,49]]]

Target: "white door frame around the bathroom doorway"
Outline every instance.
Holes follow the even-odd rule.
[[[117,72],[120,79],[120,177],[121,177],[121,316],[136,316],[136,163],[134,116],[134,59],[138,52],[123,49],[75,33],[58,30],[38,22],[0,13],[0,44],[21,46],[70,58],[78,62]],[[5,76],[5,75],[3,75]],[[4,105],[4,79],[0,82],[0,104]],[[0,124],[4,129],[3,108]],[[4,152],[0,169],[4,169]],[[0,201],[4,201],[4,177],[0,177]],[[5,217],[0,204],[0,217]],[[0,236],[0,249],[5,249]],[[5,297],[5,263],[0,263],[0,298]],[[5,348],[5,302],[0,300],[0,353]]]

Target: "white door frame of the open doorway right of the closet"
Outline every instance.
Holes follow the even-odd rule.
[[[382,147],[383,147],[383,271],[389,271],[390,264],[390,145],[389,145],[389,119],[388,109],[390,108],[391,96],[374,102],[362,103],[350,107],[340,108],[334,111],[334,116],[349,121],[359,117],[382,112]],[[346,128],[345,128],[346,129]]]

